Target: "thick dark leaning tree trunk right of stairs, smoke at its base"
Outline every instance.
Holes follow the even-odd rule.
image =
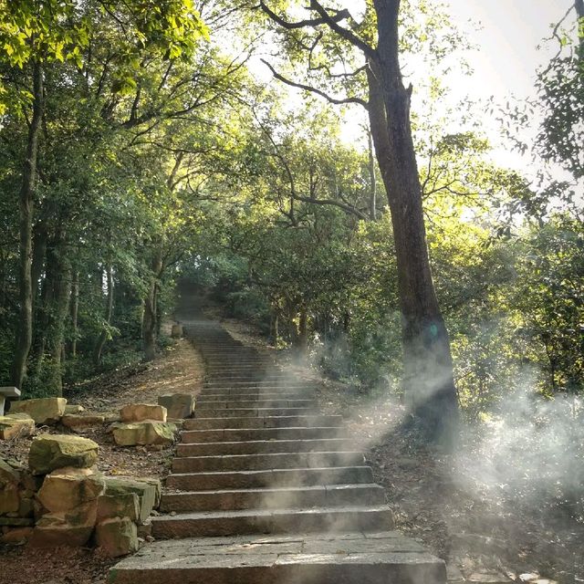
[[[401,304],[406,401],[431,440],[448,441],[458,421],[450,341],[433,286],[422,189],[401,78],[400,0],[374,0],[379,44],[370,62],[370,126],[391,209]]]

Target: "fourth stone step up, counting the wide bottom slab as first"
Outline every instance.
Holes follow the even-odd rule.
[[[281,468],[225,473],[169,474],[166,486],[177,491],[211,491],[213,489],[252,489],[274,486],[356,485],[372,483],[370,466],[336,466],[332,468]]]

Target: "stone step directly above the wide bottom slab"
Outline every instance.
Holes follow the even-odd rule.
[[[203,511],[152,517],[152,536],[218,537],[261,533],[384,531],[393,527],[388,506]]]

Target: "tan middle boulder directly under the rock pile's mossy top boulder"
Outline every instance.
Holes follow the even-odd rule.
[[[90,468],[60,468],[47,474],[36,497],[50,513],[65,513],[84,506],[105,491],[101,474]]]

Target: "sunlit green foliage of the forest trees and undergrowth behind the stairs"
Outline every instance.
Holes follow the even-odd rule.
[[[9,382],[17,326],[15,210],[31,72],[42,63],[29,395],[54,393],[59,377],[73,384],[136,362],[145,328],[165,344],[161,321],[180,278],[213,289],[232,316],[253,320],[277,347],[307,349],[308,342],[328,375],[370,391],[401,391],[391,216],[379,170],[371,172],[362,146],[366,137],[347,144],[342,112],[255,83],[249,53],[274,32],[261,11],[201,5],[203,16],[186,0],[0,4],[0,383]],[[270,6],[284,14],[301,3]],[[347,23],[371,44],[373,15],[368,1]],[[490,160],[490,144],[467,120],[456,125],[461,130],[444,130],[460,116],[442,107],[443,71],[468,44],[430,2],[404,3],[401,27],[404,62],[421,71],[421,62],[433,66],[433,76],[415,79],[424,107],[413,115],[414,138],[464,411],[479,418],[500,407],[527,374],[547,396],[581,393],[577,188],[556,181],[535,192]],[[224,36],[233,38],[233,52]],[[317,39],[308,55],[305,47]],[[310,58],[301,80],[363,98],[359,54],[328,28],[278,32],[276,42],[283,71]],[[539,78],[548,113],[539,146],[578,179],[584,99],[573,48]],[[66,317],[58,323],[57,282],[67,284]],[[62,363],[51,351],[55,343],[64,349]]]

